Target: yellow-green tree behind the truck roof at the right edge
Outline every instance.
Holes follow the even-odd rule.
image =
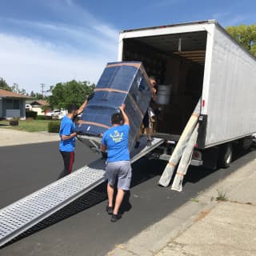
[[[242,46],[256,55],[256,24],[227,26],[226,31],[241,43]]]

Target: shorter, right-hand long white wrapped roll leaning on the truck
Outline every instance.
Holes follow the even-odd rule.
[[[194,131],[187,143],[186,149],[182,154],[181,161],[178,164],[178,170],[175,174],[173,185],[171,186],[171,190],[182,191],[182,181],[184,176],[186,175],[187,168],[190,166],[190,161],[194,152],[194,145],[198,139],[198,127],[197,124],[194,128]]]

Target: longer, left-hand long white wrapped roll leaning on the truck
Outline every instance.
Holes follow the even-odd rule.
[[[191,114],[191,117],[189,121],[186,124],[185,129],[182,132],[181,138],[179,138],[177,145],[174,148],[173,154],[170,156],[170,160],[166,165],[165,170],[162,173],[162,176],[158,182],[161,186],[169,186],[170,180],[174,174],[174,170],[182,157],[182,153],[186,148],[186,143],[190,139],[190,136],[194,130],[194,127],[196,126],[198,122],[198,117],[201,110],[201,98],[198,101],[197,106],[194,108],[193,114]]]

